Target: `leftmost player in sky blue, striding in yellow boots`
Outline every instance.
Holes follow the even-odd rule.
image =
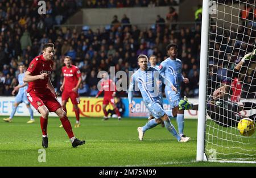
[[[27,109],[30,113],[30,121],[27,121],[27,123],[34,123],[35,119],[34,119],[34,113],[33,110],[30,107],[30,102],[27,101],[27,82],[23,82],[23,78],[24,78],[24,65],[20,64],[19,65],[19,75],[18,75],[18,81],[19,81],[19,85],[15,86],[15,88],[13,89],[13,92],[11,92],[11,94],[15,95],[15,92],[19,91],[18,94],[15,97],[15,101],[13,104],[13,110],[11,111],[11,115],[9,118],[4,118],[3,121],[5,122],[12,122],[13,121],[13,117],[14,114],[16,113],[17,107],[19,106],[19,104],[21,104],[22,102],[24,102],[24,104],[27,105]]]

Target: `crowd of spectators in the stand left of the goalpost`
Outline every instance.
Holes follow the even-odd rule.
[[[129,24],[129,17],[125,14],[121,22],[125,22],[126,25],[121,26],[121,23],[115,23],[113,19],[110,29],[80,31],[53,28],[53,24],[64,22],[68,15],[74,13],[75,10],[72,9],[83,6],[82,3],[77,3],[80,1],[47,2],[47,15],[41,16],[35,8],[36,2],[15,0],[0,2],[0,96],[11,95],[11,90],[18,82],[17,65],[23,63],[28,66],[30,61],[40,54],[42,45],[47,42],[55,44],[51,80],[58,93],[63,81],[61,67],[66,55],[71,56],[73,64],[81,70],[80,95],[95,96],[98,92],[97,83],[100,80],[97,77],[98,72],[109,71],[110,67],[114,67],[115,72],[135,71],[138,69],[137,56],[141,53],[147,56],[155,55],[160,64],[167,58],[167,44],[176,43],[179,47],[178,58],[183,61],[183,75],[191,81],[188,85],[182,86],[182,93],[188,97],[198,96],[200,23],[195,28],[181,29],[163,25],[159,20],[162,22],[177,20],[178,14],[170,7],[167,16],[158,16],[155,27],[147,30]],[[123,79],[114,78],[115,81]],[[127,94],[119,92],[119,96],[127,96]]]

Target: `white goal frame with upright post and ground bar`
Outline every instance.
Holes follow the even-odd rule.
[[[199,78],[199,110],[197,121],[197,151],[196,161],[209,161],[220,163],[256,163],[254,161],[236,160],[208,160],[205,154],[205,122],[207,118],[207,74],[209,51],[209,5],[210,0],[203,0],[203,13],[201,24],[201,52],[200,52],[200,78]]]

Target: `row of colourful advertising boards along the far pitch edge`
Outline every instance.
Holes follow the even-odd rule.
[[[0,97],[0,115],[10,115],[13,107],[15,97]],[[59,102],[61,103],[61,97],[58,97]],[[102,111],[102,101],[103,98],[94,98],[94,97],[80,97],[80,116],[81,117],[103,117]],[[198,98],[188,98],[189,102],[196,103],[198,102]],[[148,117],[148,109],[143,103],[142,98],[133,98],[134,102],[134,113],[129,113],[129,103],[128,98],[122,98],[122,102],[125,105],[125,112],[123,113],[123,117]],[[164,110],[170,109],[170,105],[168,105],[168,101],[166,98],[163,100]],[[109,105],[108,109],[112,109],[112,106]],[[35,116],[40,116],[38,111],[32,107]],[[75,113],[73,112],[73,106],[71,101],[67,103],[67,111],[69,117],[75,117]],[[250,114],[248,111],[241,111],[241,114]],[[15,115],[20,116],[29,116],[27,107],[25,104],[20,104],[16,110]],[[56,117],[55,113],[50,113],[49,116]],[[194,110],[185,110],[185,118],[197,118],[197,111]]]

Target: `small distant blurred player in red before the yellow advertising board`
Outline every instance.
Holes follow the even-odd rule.
[[[119,113],[119,110],[117,106],[115,106],[115,84],[112,80],[109,79],[108,73],[102,74],[102,80],[101,80],[101,89],[96,95],[96,98],[100,96],[100,94],[104,91],[104,99],[103,99],[103,104],[102,104],[102,109],[104,112],[104,120],[108,120],[108,112],[106,111],[106,106],[109,104],[112,104],[115,114],[118,115],[118,120],[121,120],[121,114]]]

